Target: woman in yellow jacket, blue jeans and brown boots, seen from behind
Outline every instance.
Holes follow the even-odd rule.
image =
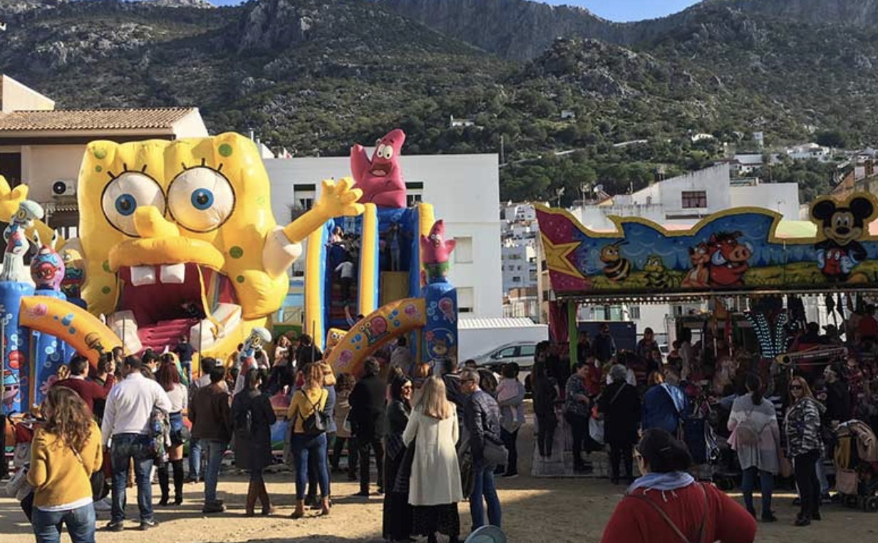
[[[320,364],[307,364],[302,373],[305,385],[296,390],[286,413],[292,425],[291,451],[296,464],[296,511],[292,518],[305,516],[305,490],[308,482],[308,459],[317,461],[320,482],[320,514],[329,514],[329,473],[327,471],[327,417],[329,394],[323,388]],[[331,418],[331,417],[330,417]]]

